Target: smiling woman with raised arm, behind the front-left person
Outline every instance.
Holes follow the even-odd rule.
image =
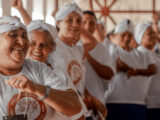
[[[29,50],[27,57],[32,60],[37,60],[40,62],[43,62],[47,64],[50,68],[56,69],[55,66],[53,66],[54,57],[51,56],[51,53],[55,52],[56,49],[56,40],[58,38],[57,30],[41,21],[31,21],[30,16],[28,15],[27,11],[23,8],[22,1],[13,1],[13,6],[19,10],[21,13],[25,24],[27,24],[27,30],[29,34]],[[28,24],[29,23],[29,24]],[[68,78],[67,74],[62,71],[56,71],[61,77],[66,79],[67,86],[70,86],[71,88],[75,89],[73,86],[72,81]],[[54,119],[78,119],[82,120],[84,112],[86,111],[86,107],[83,103],[83,101],[80,99],[82,110],[79,114],[76,114],[75,116],[68,117],[65,115],[62,115],[61,113],[57,113],[57,115],[54,117]]]

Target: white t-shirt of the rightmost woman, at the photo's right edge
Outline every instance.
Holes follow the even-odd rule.
[[[156,60],[157,73],[150,77],[150,85],[147,95],[148,108],[160,108],[160,56],[153,53]]]

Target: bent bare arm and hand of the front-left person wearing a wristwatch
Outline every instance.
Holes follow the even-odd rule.
[[[18,80],[20,80],[20,82],[17,82]],[[6,82],[8,85],[19,89],[22,92],[32,93],[38,97],[43,97],[44,91],[46,90],[45,86],[32,82],[24,75],[16,75]],[[68,116],[73,116],[81,110],[79,97],[76,92],[71,89],[57,90],[51,88],[50,93],[44,102],[55,110]]]

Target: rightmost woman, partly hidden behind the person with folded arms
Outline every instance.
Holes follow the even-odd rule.
[[[160,56],[155,53],[154,48],[157,43],[156,34],[152,29],[152,26],[149,22],[141,23],[141,26],[146,26],[143,28],[143,37],[145,38],[140,43],[145,45],[145,50],[150,51],[153,54],[153,58],[156,61],[157,73],[150,77],[150,85],[147,94],[147,120],[159,120],[159,112],[160,112],[160,99],[159,99],[159,78],[160,78]],[[151,38],[154,37],[154,39]]]

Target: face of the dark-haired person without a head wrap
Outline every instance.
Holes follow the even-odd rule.
[[[84,14],[83,15],[83,28],[89,31],[91,34],[96,30],[96,19],[93,15]]]

